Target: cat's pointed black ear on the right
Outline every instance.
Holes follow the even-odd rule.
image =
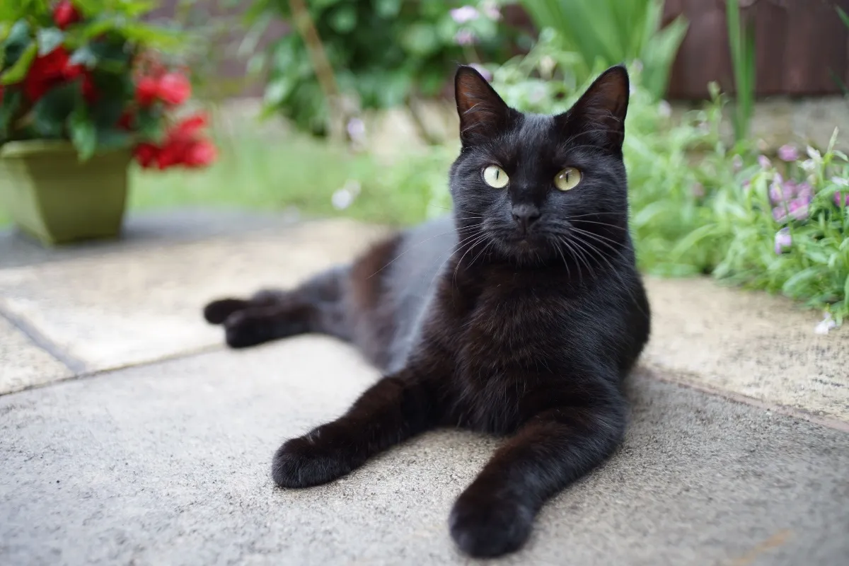
[[[621,153],[628,110],[628,71],[624,65],[605,70],[565,114],[557,116],[578,134],[581,143],[593,143]],[[580,133],[582,132],[582,133]]]

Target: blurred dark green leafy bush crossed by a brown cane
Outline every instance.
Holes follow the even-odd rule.
[[[313,0],[308,8],[340,92],[355,98],[358,109],[435,96],[458,63],[503,61],[519,37],[503,25],[492,0],[465,7],[449,0]],[[253,53],[271,22],[291,21],[290,3],[252,0],[246,18],[242,50]],[[294,29],[254,53],[250,68],[267,73],[268,112],[281,112],[304,131],[325,132],[327,102]]]

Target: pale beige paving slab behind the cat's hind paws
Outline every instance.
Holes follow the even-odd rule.
[[[380,228],[306,222],[167,247],[127,248],[0,270],[0,309],[37,329],[85,371],[222,345],[205,302],[293,286],[368,245]]]

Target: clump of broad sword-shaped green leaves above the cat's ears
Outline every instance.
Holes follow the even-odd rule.
[[[666,93],[688,24],[679,16],[661,28],[662,0],[523,0],[522,5],[538,29],[554,28],[561,48],[578,54],[579,81],[599,66],[638,60],[644,87],[655,98]]]

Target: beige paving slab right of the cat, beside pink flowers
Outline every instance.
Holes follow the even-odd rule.
[[[814,333],[818,312],[707,277],[647,283],[649,364],[686,383],[849,423],[849,328]]]

